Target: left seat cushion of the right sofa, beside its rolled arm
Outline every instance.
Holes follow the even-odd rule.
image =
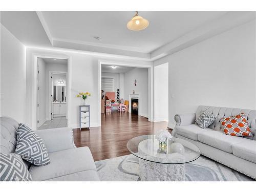
[[[201,129],[197,124],[190,125],[182,125],[175,127],[176,134],[186,137],[188,139],[192,139],[194,141],[198,141],[198,134],[205,131],[213,131],[211,129]]]

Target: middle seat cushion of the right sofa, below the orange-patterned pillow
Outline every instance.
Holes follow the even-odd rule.
[[[232,153],[232,144],[240,143],[247,139],[226,135],[223,131],[205,131],[198,134],[198,140],[224,152]]]

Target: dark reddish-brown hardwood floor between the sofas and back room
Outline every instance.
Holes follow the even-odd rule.
[[[167,124],[149,122],[147,118],[131,113],[101,114],[101,127],[73,130],[74,142],[77,147],[89,146],[94,161],[99,161],[130,154],[126,148],[127,141],[136,136],[167,129]]]

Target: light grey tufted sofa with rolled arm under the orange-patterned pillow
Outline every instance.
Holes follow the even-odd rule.
[[[195,124],[202,111],[208,110],[217,119],[207,129]],[[243,112],[253,137],[226,135],[220,119]],[[197,145],[201,154],[256,179],[256,110],[221,108],[200,105],[195,113],[175,115],[172,135]]]

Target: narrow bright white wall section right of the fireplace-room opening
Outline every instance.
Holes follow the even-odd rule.
[[[154,67],[155,121],[168,121],[168,63]]]

